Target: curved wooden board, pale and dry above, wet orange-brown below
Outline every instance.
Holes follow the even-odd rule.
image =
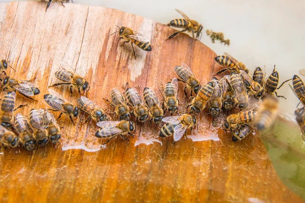
[[[54,72],[65,61],[76,67],[91,84],[88,97],[113,110],[102,97],[109,98],[112,87],[129,82],[140,90],[175,77],[174,66],[189,64],[205,83],[220,67],[216,54],[187,35],[165,41],[173,29],[121,11],[77,4],[45,2],[0,4],[0,56],[11,61],[19,79],[36,78],[41,94],[33,102],[17,96],[17,105],[29,104],[18,112],[27,114],[42,103]],[[153,51],[136,49],[131,59],[130,44],[121,47],[117,35],[109,35],[116,25],[125,25],[151,39]],[[51,77],[50,77],[51,76]],[[179,84],[181,107],[188,103]],[[68,87],[57,89],[76,103]],[[160,96],[160,94],[159,94]],[[161,98],[161,97],[160,97]],[[267,151],[256,134],[232,143],[220,125],[212,127],[210,115],[201,115],[198,129],[179,142],[158,138],[154,124],[138,125],[126,143],[93,136],[94,123],[76,126],[69,118],[58,120],[63,128],[60,146],[34,150],[3,150],[0,155],[0,198],[2,202],[301,202],[279,179]],[[218,119],[222,122],[224,116]]]

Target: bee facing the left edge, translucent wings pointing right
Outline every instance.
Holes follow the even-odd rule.
[[[39,86],[25,80],[18,80],[15,78],[11,78],[7,76],[2,81],[2,89],[7,92],[18,91],[21,95],[25,96],[26,98],[32,99],[37,101],[30,96],[34,96],[40,93]]]

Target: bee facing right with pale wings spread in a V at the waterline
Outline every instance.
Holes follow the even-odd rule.
[[[166,122],[159,133],[160,137],[174,136],[174,141],[178,141],[185,134],[187,129],[192,129],[196,125],[196,118],[190,114],[181,116],[169,116],[162,119]]]

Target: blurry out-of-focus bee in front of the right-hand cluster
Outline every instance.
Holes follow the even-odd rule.
[[[278,99],[273,96],[265,97],[263,102],[259,104],[254,125],[258,130],[268,129],[275,122],[278,112]]]

